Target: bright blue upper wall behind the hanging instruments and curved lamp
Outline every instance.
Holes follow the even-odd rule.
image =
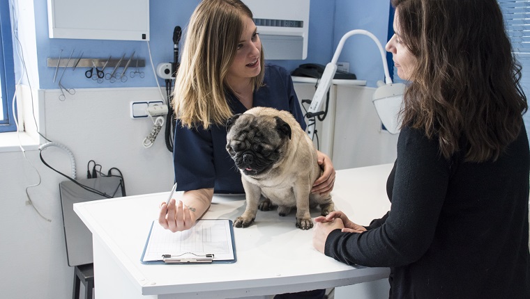
[[[326,64],[331,60],[335,47],[344,33],[351,29],[365,29],[376,35],[381,43],[386,42],[388,28],[388,0],[311,0],[310,28],[308,38],[308,58],[305,60],[273,60],[292,71],[301,63]],[[151,55],[153,64],[166,63],[173,60],[172,35],[175,26],[185,27],[188,19],[199,0],[153,0],[150,3]],[[146,60],[142,71],[144,79],[129,78],[125,83],[97,83],[86,79],[86,67],[76,68],[72,72],[66,70],[63,85],[67,88],[100,88],[100,87],[154,87],[156,80],[160,85],[164,82],[156,77],[151,70],[149,52],[146,42],[113,41],[113,40],[70,40],[48,38],[46,1],[34,1],[36,12],[36,38],[38,47],[38,76],[40,89],[56,89],[53,82],[54,67],[47,67],[47,58],[57,58],[61,49],[61,59],[68,58],[75,49],[73,57],[83,51],[84,58],[120,58],[135,51],[135,56]],[[94,22],[98,22],[96,17]],[[100,22],[105,22],[101,20]],[[348,40],[342,51],[340,61],[350,62],[350,70],[357,74],[358,79],[368,80],[368,86],[375,86],[377,80],[383,79],[381,58],[370,38],[356,35]],[[112,70],[112,69],[111,69]],[[123,70],[120,69],[119,72]],[[59,70],[58,76],[62,70]],[[105,70],[107,71],[107,70]]]

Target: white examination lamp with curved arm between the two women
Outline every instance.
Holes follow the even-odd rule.
[[[335,72],[337,71],[337,61],[339,59],[340,52],[342,51],[342,47],[344,47],[346,40],[351,35],[356,34],[368,35],[370,38],[372,38],[372,40],[374,40],[377,47],[379,48],[381,58],[383,59],[385,82],[377,82],[378,88],[374,92],[372,102],[374,103],[377,115],[379,115],[379,119],[381,119],[381,122],[388,130],[388,132],[391,134],[398,134],[400,125],[400,122],[398,120],[398,113],[402,104],[404,84],[392,83],[392,79],[390,77],[390,74],[388,73],[388,65],[386,64],[385,51],[383,49],[383,46],[381,46],[381,42],[377,40],[375,35],[373,35],[369,31],[365,31],[362,29],[355,29],[349,31],[340,39],[339,45],[337,46],[335,54],[333,55],[333,59],[331,59],[331,62],[326,65],[324,73],[321,76],[319,86],[317,87],[317,91],[315,92],[315,95],[313,96],[313,99],[311,101],[311,105],[309,106],[308,115],[314,116],[315,113],[319,111],[321,104],[324,102],[324,97],[326,96],[326,93],[328,92],[328,89],[331,86],[333,76],[335,76]],[[315,130],[312,130],[311,138],[314,135]]]

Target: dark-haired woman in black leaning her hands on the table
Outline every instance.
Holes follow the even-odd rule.
[[[410,85],[391,211],[368,227],[316,218],[315,248],[390,267],[390,298],[530,298],[527,99],[499,5],[392,4],[386,50]]]

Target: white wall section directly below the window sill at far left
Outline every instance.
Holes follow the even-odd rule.
[[[21,152],[0,154],[0,289],[3,298],[67,298],[72,290],[73,270],[66,264],[60,201],[59,179],[49,175],[38,159],[38,152],[27,152],[29,162]],[[38,209],[27,206],[28,189]],[[67,168],[68,169],[68,168]]]

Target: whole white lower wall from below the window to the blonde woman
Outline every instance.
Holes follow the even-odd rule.
[[[28,90],[23,93],[29,95]],[[73,152],[77,177],[86,177],[86,164],[94,160],[103,165],[105,172],[112,167],[123,172],[128,195],[171,188],[172,154],[162,133],[153,147],[145,149],[142,140],[151,131],[150,120],[129,117],[129,102],[159,99],[156,88],[79,89],[63,102],[59,101],[59,90],[33,93],[37,95],[34,100],[41,103],[40,115],[45,115],[43,133]],[[59,197],[59,182],[66,178],[43,165],[38,151],[27,151],[26,155],[29,161],[17,149],[0,152],[1,297],[68,298],[73,287],[73,268],[66,260]],[[71,175],[70,159],[62,149],[48,147],[43,156],[54,168]],[[26,204],[25,189],[37,184],[39,175],[40,184],[28,192],[51,222]],[[122,217],[127,215],[116,215],[116,221]]]

